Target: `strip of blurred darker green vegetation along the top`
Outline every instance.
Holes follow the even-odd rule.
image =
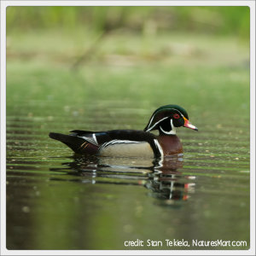
[[[248,7],[10,7],[8,31],[83,26],[97,32],[201,32],[249,37]]]

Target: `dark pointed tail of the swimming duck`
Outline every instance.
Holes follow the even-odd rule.
[[[65,134],[56,133],[56,132],[49,132],[49,137],[57,141],[60,141],[61,143],[66,144],[67,147],[73,149],[75,153],[82,153],[81,145],[84,143],[84,139],[82,139],[81,137],[76,137],[73,135],[65,135]]]

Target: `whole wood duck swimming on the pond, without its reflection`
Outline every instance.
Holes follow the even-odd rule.
[[[189,123],[184,108],[166,105],[157,108],[143,131],[80,131],[69,135],[50,132],[49,137],[65,143],[78,154],[99,154],[101,156],[164,158],[183,153],[183,146],[176,136],[177,127],[198,131]],[[158,130],[159,136],[150,131]]]

